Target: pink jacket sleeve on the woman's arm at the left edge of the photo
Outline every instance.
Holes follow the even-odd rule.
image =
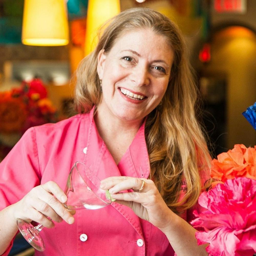
[[[0,163],[0,210],[22,199],[40,184],[34,128],[28,129]],[[8,255],[13,241],[2,255]]]

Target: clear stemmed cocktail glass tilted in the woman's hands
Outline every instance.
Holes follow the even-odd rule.
[[[70,170],[65,194],[67,201],[63,204],[68,210],[100,209],[111,204],[106,191],[100,188],[99,178],[83,163],[76,162]],[[45,243],[39,232],[44,228],[41,224],[17,219],[17,226],[23,237],[38,251],[45,250]]]

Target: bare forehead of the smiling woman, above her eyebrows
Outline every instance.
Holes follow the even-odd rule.
[[[133,50],[142,56],[152,56],[157,58],[173,55],[172,47],[168,40],[152,29],[141,29],[127,31],[119,36],[110,52],[119,53],[124,50]]]

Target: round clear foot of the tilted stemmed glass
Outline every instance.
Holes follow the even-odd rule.
[[[44,240],[41,238],[39,232],[31,223],[22,219],[17,219],[17,226],[20,233],[31,246],[41,252],[45,250]]]

